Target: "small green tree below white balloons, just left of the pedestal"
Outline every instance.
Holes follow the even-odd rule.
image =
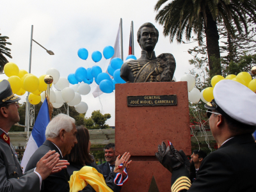
[[[106,120],[111,118],[109,113],[102,115],[100,110],[93,111],[90,118],[85,118],[85,126],[87,129],[108,129],[109,125],[106,124]]]

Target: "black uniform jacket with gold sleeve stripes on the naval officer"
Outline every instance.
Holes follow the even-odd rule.
[[[255,162],[256,143],[252,135],[235,136],[205,157],[198,170],[198,175],[188,191],[256,191]],[[182,169],[173,171],[173,192],[186,191],[186,189],[182,190],[179,180],[182,176],[187,177],[187,175],[180,173],[182,173]],[[183,188],[186,188],[185,182],[184,186]]]

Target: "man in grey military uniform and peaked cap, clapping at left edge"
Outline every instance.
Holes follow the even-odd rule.
[[[0,82],[0,191],[40,191],[42,180],[51,173],[60,172],[62,166],[57,165],[59,154],[54,150],[47,151],[45,156],[38,159],[35,166],[25,174],[22,173],[19,161],[15,156],[15,149],[10,143],[8,131],[12,125],[20,120],[19,97],[13,95],[10,83],[6,80]],[[62,161],[63,162],[63,161]],[[58,167],[60,166],[60,167]]]

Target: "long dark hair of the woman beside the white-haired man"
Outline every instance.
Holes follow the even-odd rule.
[[[65,159],[70,163],[83,164],[92,163],[93,159],[89,154],[88,145],[90,141],[89,131],[83,125],[76,127],[77,144],[72,148]]]

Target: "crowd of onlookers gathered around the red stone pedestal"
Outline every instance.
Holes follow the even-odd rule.
[[[236,90],[236,94],[234,94]],[[230,95],[230,97],[227,97]],[[8,131],[19,122],[19,97],[10,83],[0,82],[0,192],[1,191],[115,191],[122,189],[131,154],[115,156],[115,144],[104,148],[106,163],[97,165],[90,152],[86,127],[60,114],[45,131],[46,140],[31,156],[22,173]],[[194,150],[191,161],[173,145],[159,145],[156,157],[172,172],[171,190],[255,191],[256,94],[235,81],[220,81],[214,100],[205,104],[218,150]]]

